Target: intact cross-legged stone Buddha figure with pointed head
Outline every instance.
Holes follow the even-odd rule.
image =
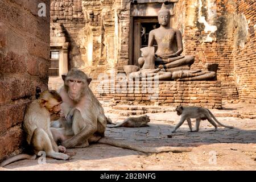
[[[158,12],[158,22],[160,27],[151,30],[148,36],[148,47],[153,46],[154,41],[158,45],[154,55],[156,67],[162,64],[167,72],[189,69],[190,65],[194,63],[195,57],[181,56],[183,52],[181,32],[168,26],[170,10],[164,3]]]

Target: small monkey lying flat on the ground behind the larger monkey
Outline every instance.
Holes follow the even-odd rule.
[[[115,126],[108,126],[108,127],[144,127],[148,126],[147,123],[150,122],[150,118],[148,115],[142,115],[141,117],[130,117],[126,118],[125,121],[122,123],[115,125]]]

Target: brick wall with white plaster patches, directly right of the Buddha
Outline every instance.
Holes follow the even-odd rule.
[[[191,68],[217,63],[224,102],[238,100],[234,81],[234,11],[230,0],[179,1],[177,27],[183,33],[184,54],[195,56]]]

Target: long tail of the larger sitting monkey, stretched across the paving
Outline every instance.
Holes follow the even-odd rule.
[[[142,146],[137,146],[135,144],[129,144],[123,140],[118,140],[118,139],[113,139],[113,138],[108,138],[108,137],[103,137],[100,140],[98,140],[97,143],[102,143],[102,144],[109,144],[111,146],[115,147],[121,147],[121,148],[127,148],[139,152],[144,152],[144,153],[161,153],[161,152],[190,152],[192,151],[191,147],[142,147]]]

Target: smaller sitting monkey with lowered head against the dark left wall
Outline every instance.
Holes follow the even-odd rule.
[[[50,114],[60,112],[62,100],[60,95],[54,90],[46,90],[38,100],[28,105],[24,117],[23,129],[26,133],[27,143],[31,146],[34,155],[19,154],[7,159],[0,164],[1,167],[21,159],[36,159],[39,151],[45,151],[46,156],[54,159],[67,160],[69,156],[60,152],[65,152],[66,148],[57,146],[51,130],[49,128]],[[59,152],[60,151],[60,152]]]

